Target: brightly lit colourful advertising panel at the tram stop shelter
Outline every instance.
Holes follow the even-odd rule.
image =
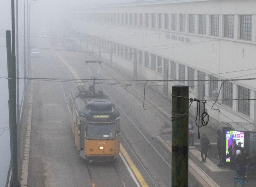
[[[238,142],[241,142],[242,147],[243,147],[244,146],[244,132],[226,131],[226,154],[228,154],[228,147],[231,145],[232,140],[236,140],[236,144],[238,144]],[[226,162],[230,162],[230,158],[226,158]]]

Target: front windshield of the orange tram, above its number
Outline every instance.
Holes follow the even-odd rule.
[[[88,138],[114,138],[114,123],[88,123],[86,129],[86,137]]]

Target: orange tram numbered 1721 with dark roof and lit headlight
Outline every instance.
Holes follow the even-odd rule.
[[[112,161],[120,151],[119,111],[94,86],[79,85],[70,94],[72,132],[79,156],[88,161]]]

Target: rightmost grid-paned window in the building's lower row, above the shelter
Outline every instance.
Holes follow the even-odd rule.
[[[238,99],[250,99],[251,90],[238,85]],[[250,100],[238,100],[238,111],[250,116]]]

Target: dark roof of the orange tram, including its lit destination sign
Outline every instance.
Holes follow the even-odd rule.
[[[90,119],[116,119],[119,111],[101,90],[89,91],[89,85],[80,85],[72,90],[71,97],[75,103],[78,115]]]

